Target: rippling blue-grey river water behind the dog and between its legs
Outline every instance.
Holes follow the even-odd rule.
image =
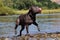
[[[19,15],[13,16],[0,16],[0,36],[13,36],[15,20]],[[36,22],[39,24],[40,32],[38,32],[35,25],[29,26],[29,33],[50,33],[50,32],[60,32],[60,14],[38,14]],[[17,31],[19,34],[20,27]],[[26,30],[26,29],[25,29]],[[23,34],[26,34],[26,31]]]

